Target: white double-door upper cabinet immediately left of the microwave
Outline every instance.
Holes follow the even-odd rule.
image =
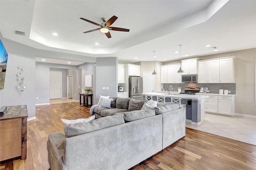
[[[161,66],[161,83],[181,83],[179,64]]]

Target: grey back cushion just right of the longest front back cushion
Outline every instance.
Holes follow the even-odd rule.
[[[124,121],[126,122],[136,121],[138,119],[156,115],[154,109],[130,111],[122,114],[124,115]]]

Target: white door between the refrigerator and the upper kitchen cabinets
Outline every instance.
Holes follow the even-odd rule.
[[[143,73],[143,93],[152,93],[155,89],[155,76],[151,72]]]

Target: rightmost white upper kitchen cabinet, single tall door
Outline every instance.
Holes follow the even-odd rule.
[[[220,83],[234,83],[234,58],[220,59]]]

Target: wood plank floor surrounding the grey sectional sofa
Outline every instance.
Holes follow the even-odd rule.
[[[48,134],[64,131],[61,118],[90,117],[89,109],[79,102],[36,106],[36,119],[28,122],[27,158],[0,164],[0,170],[48,170]],[[184,139],[132,169],[256,170],[256,146],[186,128]]]

